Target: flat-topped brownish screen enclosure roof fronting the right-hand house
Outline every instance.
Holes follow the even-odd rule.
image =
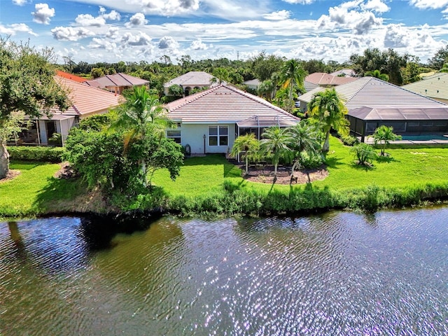
[[[448,106],[362,106],[349,111],[349,116],[363,120],[448,120]]]

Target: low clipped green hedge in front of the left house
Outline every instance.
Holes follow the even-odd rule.
[[[62,162],[65,153],[63,147],[44,146],[11,146],[8,147],[10,160],[38,161],[38,162]]]

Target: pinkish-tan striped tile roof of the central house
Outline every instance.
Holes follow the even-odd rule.
[[[254,116],[297,123],[300,119],[265,99],[221,84],[166,104],[168,118],[183,123],[237,123]]]

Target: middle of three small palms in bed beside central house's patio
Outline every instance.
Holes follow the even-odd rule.
[[[263,139],[260,141],[262,151],[267,154],[272,154],[272,164],[274,165],[274,182],[277,177],[277,167],[279,166],[280,158],[284,153],[290,151],[290,146],[293,139],[290,136],[288,129],[280,127],[269,127],[263,133]]]

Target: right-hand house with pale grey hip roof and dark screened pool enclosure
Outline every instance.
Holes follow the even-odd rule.
[[[323,87],[299,97],[306,111],[314,94]],[[381,125],[393,127],[396,134],[448,133],[448,106],[374,77],[363,77],[335,87],[349,110],[351,133],[365,140]]]

